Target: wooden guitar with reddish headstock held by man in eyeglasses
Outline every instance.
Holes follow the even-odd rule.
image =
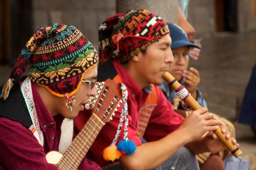
[[[46,155],[47,162],[56,164],[60,170],[76,170],[79,167],[99,131],[106,122],[113,119],[112,116],[122,102],[120,86],[115,81],[107,79],[105,82],[97,83],[96,88],[99,95],[90,97],[89,105],[85,106],[87,109],[93,108],[92,115],[70,147],[64,155],[57,151],[50,151]]]

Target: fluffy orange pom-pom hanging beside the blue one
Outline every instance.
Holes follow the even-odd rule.
[[[122,153],[116,149],[116,145],[111,145],[103,150],[102,155],[104,160],[114,161],[116,159],[119,159]]]

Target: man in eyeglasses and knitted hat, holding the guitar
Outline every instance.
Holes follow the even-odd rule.
[[[96,95],[98,60],[76,27],[38,28],[0,88],[0,170],[58,170],[46,153],[64,153],[71,144],[73,118]],[[29,61],[29,76],[23,77]],[[101,168],[85,158],[78,169]]]

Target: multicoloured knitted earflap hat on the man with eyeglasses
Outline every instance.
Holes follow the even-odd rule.
[[[64,97],[76,93],[84,73],[98,60],[95,48],[76,27],[42,26],[22,49],[0,98],[6,99],[12,84],[20,82],[29,61],[32,82]]]

